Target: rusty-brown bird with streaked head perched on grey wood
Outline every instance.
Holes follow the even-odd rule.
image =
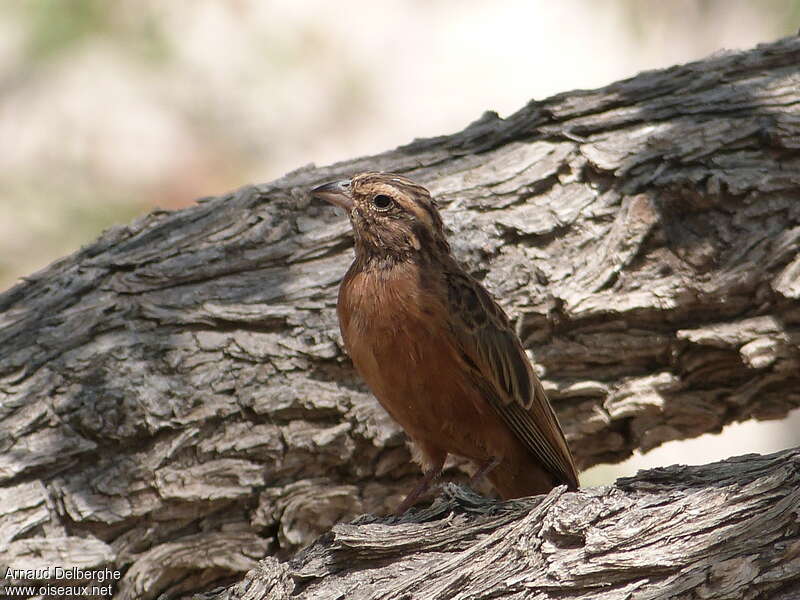
[[[578,486],[564,433],[508,317],[450,253],[436,202],[392,173],[327,183],[316,198],[344,208],[355,261],[339,288],[345,348],[414,441],[424,477],[448,454],[474,461],[504,499]]]

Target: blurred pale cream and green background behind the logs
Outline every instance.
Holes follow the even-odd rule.
[[[6,0],[0,290],[156,207],[799,24],[800,2],[787,0]],[[735,426],[746,444],[673,443],[647,459],[777,449],[798,425]],[[604,469],[589,480],[619,471]]]

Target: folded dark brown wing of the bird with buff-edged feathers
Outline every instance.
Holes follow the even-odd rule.
[[[577,473],[561,425],[503,309],[463,272],[447,275],[451,332],[489,404],[560,482]]]

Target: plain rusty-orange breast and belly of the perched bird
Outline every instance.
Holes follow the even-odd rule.
[[[356,370],[412,439],[483,460],[489,454],[476,432],[496,418],[467,377],[444,280],[435,276],[415,265],[349,272],[339,290],[342,337]]]

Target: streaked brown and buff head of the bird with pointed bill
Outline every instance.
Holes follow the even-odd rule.
[[[436,202],[406,177],[362,173],[311,193],[348,212],[360,258],[408,260],[450,251]]]

